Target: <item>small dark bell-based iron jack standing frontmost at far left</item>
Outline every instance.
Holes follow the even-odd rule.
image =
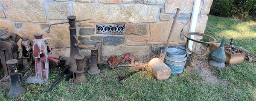
[[[18,60],[12,59],[8,60],[6,64],[10,67],[10,76],[11,76],[11,89],[9,93],[7,93],[7,98],[18,98],[20,95],[25,93],[25,89],[23,89],[20,85],[22,83],[22,74],[17,72]],[[20,81],[19,81],[20,77]]]

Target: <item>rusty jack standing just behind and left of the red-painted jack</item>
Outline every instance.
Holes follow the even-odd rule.
[[[32,56],[32,44],[28,39],[29,36],[22,36],[21,39],[21,49],[22,49],[22,58],[23,58],[23,68],[28,68],[31,66],[33,61]]]

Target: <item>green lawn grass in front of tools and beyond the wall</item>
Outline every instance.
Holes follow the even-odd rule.
[[[244,22],[209,16],[205,34],[218,39],[234,38],[234,45],[244,47],[256,54],[256,22]],[[201,75],[184,71],[172,75],[166,80],[156,80],[149,72],[140,72],[117,81],[121,75],[134,71],[130,69],[111,69],[99,66],[101,73],[90,76],[86,73],[87,83],[76,85],[73,81],[61,79],[52,91],[49,87],[61,71],[50,71],[49,82],[44,84],[22,83],[26,93],[19,101],[256,101],[256,62],[245,60],[238,65],[229,65],[224,69],[214,69],[220,79],[229,83],[211,85]],[[34,72],[34,69],[31,69]],[[24,72],[24,71],[20,71]],[[3,75],[0,69],[0,77]],[[26,74],[28,75],[28,74]],[[26,79],[26,78],[25,78]],[[9,88],[0,92],[0,101],[8,101]]]

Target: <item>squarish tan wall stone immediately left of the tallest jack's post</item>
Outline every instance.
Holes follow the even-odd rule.
[[[49,21],[50,24],[58,21]],[[51,48],[55,47],[70,47],[70,30],[68,29],[69,24],[53,25],[51,26],[50,33],[47,30],[44,32],[44,37],[51,37],[48,40]]]

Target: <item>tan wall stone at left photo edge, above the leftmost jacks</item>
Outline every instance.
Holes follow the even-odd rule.
[[[12,22],[9,21],[8,19],[1,18],[0,19],[0,27],[6,27],[8,28],[8,34],[11,35],[14,33],[14,27],[12,25]]]

